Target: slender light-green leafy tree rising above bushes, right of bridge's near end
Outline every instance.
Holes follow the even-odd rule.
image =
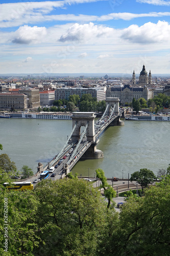
[[[99,178],[102,182],[102,187],[104,188],[104,195],[108,199],[107,208],[110,207],[110,203],[113,197],[116,197],[116,191],[108,184],[107,178],[105,177],[105,173],[103,169],[96,169],[96,177]]]

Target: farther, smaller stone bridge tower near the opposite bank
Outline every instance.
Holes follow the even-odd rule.
[[[106,98],[106,115],[110,114],[110,108],[114,108],[114,114],[117,115],[117,118],[110,123],[111,126],[115,125],[124,125],[124,121],[120,120],[119,115],[119,98],[107,97]]]

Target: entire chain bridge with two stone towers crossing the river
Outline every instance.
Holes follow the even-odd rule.
[[[109,125],[124,125],[124,121],[120,120],[123,113],[124,111],[119,111],[119,98],[106,98],[106,110],[103,116],[96,121],[93,112],[73,112],[71,116],[72,131],[67,141],[58,155],[48,162],[43,170],[55,166],[66,153],[66,159],[62,162],[61,167],[64,170],[64,175],[70,172],[80,158],[103,158],[103,152],[96,148],[99,136]],[[42,165],[38,171],[42,171]]]

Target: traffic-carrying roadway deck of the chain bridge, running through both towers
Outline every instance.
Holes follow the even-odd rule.
[[[101,119],[98,119],[98,120],[95,121],[95,124],[94,124],[95,136],[96,136],[95,144],[97,144],[99,142],[99,135],[117,117],[118,117],[117,115],[112,114],[112,116],[105,116],[102,119],[102,121],[101,121]],[[60,178],[65,176],[64,172],[62,173],[62,169],[64,169],[65,165],[67,166],[67,173],[70,172],[72,167],[74,167],[74,165],[80,160],[80,158],[87,151],[87,149],[91,146],[91,144],[94,144],[94,142],[93,141],[87,141],[86,138],[84,138],[81,141],[79,147],[77,148],[77,152],[75,152],[77,144],[78,144],[78,141],[76,143],[74,142],[71,145],[69,145],[68,150],[63,152],[63,154],[61,155],[60,159],[63,159],[65,154],[68,153],[69,149],[71,147],[74,148],[74,151],[72,151],[71,154],[69,154],[69,156],[66,157],[66,159],[63,159],[62,164],[59,165],[57,168],[55,168],[54,173],[57,175],[56,176],[57,179],[60,179]],[[70,161],[71,155],[75,154],[75,153],[76,153],[75,157]],[[52,161],[50,162],[50,166],[55,166],[56,164],[58,164],[60,159],[55,161],[55,158],[53,158]]]

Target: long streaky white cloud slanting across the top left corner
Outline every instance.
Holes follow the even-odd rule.
[[[53,20],[55,15],[52,15],[51,17],[46,14],[52,12],[56,8],[67,7],[71,4],[82,4],[98,1],[103,0],[64,0],[0,4],[0,27],[14,27],[33,22]],[[58,16],[60,18],[60,15]]]

